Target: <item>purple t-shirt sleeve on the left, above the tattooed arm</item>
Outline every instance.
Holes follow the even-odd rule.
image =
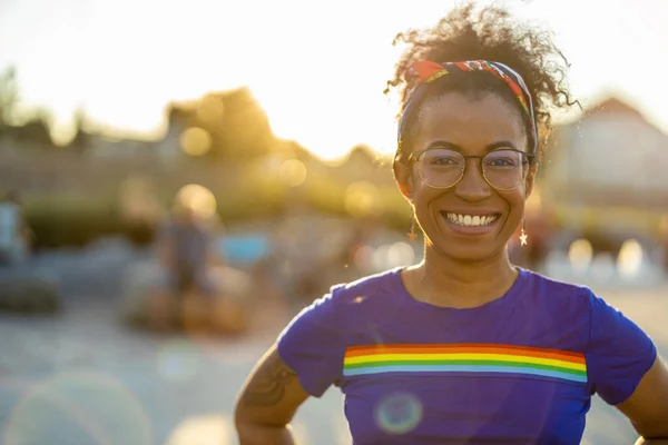
[[[278,336],[278,355],[314,397],[321,397],[343,375],[345,340],[336,293],[304,308]]]

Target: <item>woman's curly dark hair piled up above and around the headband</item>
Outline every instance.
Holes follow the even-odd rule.
[[[552,36],[544,30],[534,29],[528,23],[513,20],[503,8],[489,6],[479,11],[473,2],[462,4],[452,10],[439,23],[429,29],[412,29],[399,33],[393,44],[403,42],[407,49],[395,65],[394,77],[387,81],[385,93],[399,88],[401,95],[401,117],[409,100],[409,89],[404,80],[407,68],[420,60],[435,62],[454,62],[466,60],[490,60],[504,63],[515,70],[527,83],[533,100],[533,113],[539,127],[540,141],[532,145],[544,146],[550,130],[550,109],[566,108],[573,103],[566,81],[569,63],[562,52],[554,46]],[[443,79],[443,78],[441,78]],[[494,92],[509,99],[514,107],[519,101],[510,89],[485,72],[469,72],[466,76],[449,77],[448,81],[439,80],[426,87],[433,91],[422,97],[434,97],[446,91],[459,91],[479,95],[483,91]],[[412,107],[416,109],[419,107]],[[395,159],[405,159],[402,147],[410,145],[414,134],[414,111],[406,116],[406,131],[397,147]],[[531,123],[523,119],[527,135],[532,135]]]

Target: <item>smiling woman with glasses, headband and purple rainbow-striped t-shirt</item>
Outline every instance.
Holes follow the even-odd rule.
[[[668,372],[648,336],[588,288],[508,258],[537,127],[569,105],[548,37],[471,6],[402,37],[394,174],[424,258],[295,317],[242,390],[242,444],[292,443],[298,406],[331,385],[355,444],[579,444],[592,394],[639,442],[668,443]]]

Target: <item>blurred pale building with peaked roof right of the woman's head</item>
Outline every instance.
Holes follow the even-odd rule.
[[[668,207],[668,136],[635,108],[610,98],[553,137],[548,174],[556,197]]]

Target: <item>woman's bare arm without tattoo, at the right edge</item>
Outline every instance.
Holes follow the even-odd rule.
[[[633,394],[617,408],[644,437],[637,445],[668,445],[668,367],[659,357]]]

